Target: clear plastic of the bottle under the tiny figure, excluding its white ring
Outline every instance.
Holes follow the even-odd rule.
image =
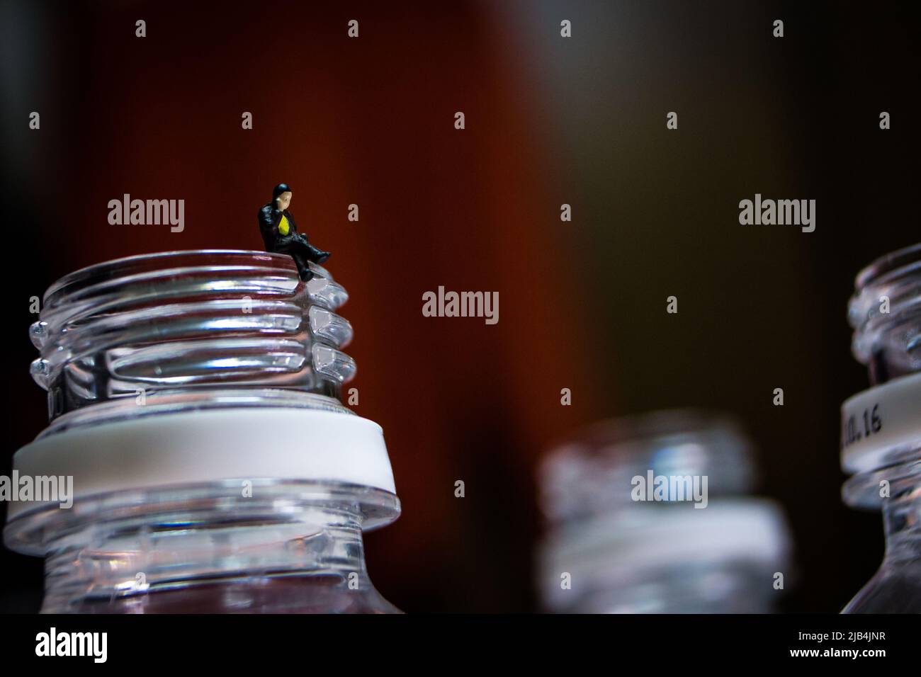
[[[29,329],[31,374],[48,391],[39,437],[94,426],[104,445],[116,427],[104,424],[204,409],[354,415],[340,401],[356,373],[342,352],[352,327],[335,312],[348,295],[310,269],[304,283],[284,254],[168,251],[64,276]],[[181,477],[185,461],[170,458]],[[134,482],[9,520],[6,545],[45,558],[43,612],[398,611],[371,584],[362,543],[400,515],[388,491],[319,477]]]

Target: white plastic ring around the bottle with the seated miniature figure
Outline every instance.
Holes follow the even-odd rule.
[[[72,476],[81,496],[221,480],[332,480],[396,494],[384,434],[352,414],[252,407],[138,416],[39,438],[18,476]],[[48,501],[57,505],[59,501]],[[7,519],[42,505],[11,501]]]

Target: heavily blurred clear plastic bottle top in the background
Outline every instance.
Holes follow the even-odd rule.
[[[541,467],[545,608],[770,612],[790,583],[790,543],[780,509],[745,496],[752,479],[748,440],[722,417],[659,412],[585,429]]]

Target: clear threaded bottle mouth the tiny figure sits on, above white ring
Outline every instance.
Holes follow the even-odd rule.
[[[347,411],[348,299],[265,251],[169,251],[99,263],[46,291],[29,328],[48,391],[45,434],[160,412],[294,406]]]

